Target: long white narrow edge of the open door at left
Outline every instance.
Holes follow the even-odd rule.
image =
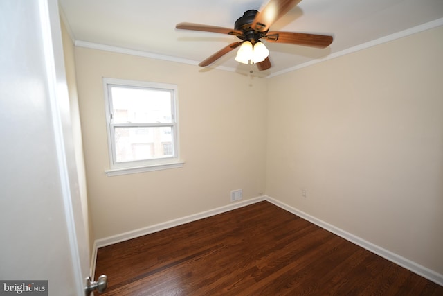
[[[90,276],[89,245],[78,190],[79,180],[75,164],[75,145],[64,66],[60,10],[57,0],[39,0],[39,8],[60,186],[73,266],[73,280],[76,294],[84,295],[85,279]]]

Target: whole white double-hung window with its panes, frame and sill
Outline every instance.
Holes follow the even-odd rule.
[[[183,166],[177,85],[103,79],[111,169],[107,175]]]

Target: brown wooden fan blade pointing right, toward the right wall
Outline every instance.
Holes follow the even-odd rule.
[[[295,32],[271,31],[264,36],[267,42],[290,43],[324,49],[332,43],[332,36]]]

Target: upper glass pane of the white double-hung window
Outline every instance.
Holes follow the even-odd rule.
[[[114,123],[171,123],[172,93],[163,89],[111,87]]]

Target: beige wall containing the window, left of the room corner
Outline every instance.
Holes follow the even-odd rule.
[[[96,239],[264,193],[266,80],[226,71],[75,48],[88,195]],[[102,78],[178,85],[183,168],[107,177]]]

